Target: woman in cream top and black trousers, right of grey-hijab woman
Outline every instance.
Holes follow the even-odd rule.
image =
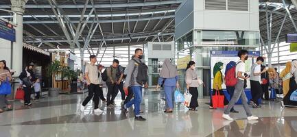
[[[192,95],[189,110],[195,111],[198,107],[198,75],[195,71],[195,62],[190,61],[186,69],[187,90]]]

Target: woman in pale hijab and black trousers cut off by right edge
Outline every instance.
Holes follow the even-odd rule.
[[[287,95],[285,95],[283,101],[281,101],[282,107],[297,107],[297,101],[291,101],[289,99],[292,93],[297,89],[297,60],[292,61],[290,73],[292,73],[292,77],[289,79],[289,92],[287,92]]]

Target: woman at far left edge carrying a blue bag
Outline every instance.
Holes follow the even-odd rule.
[[[10,82],[12,75],[6,66],[5,60],[0,61],[0,81],[1,82]],[[8,103],[8,100],[5,98],[5,95],[0,95],[0,113],[3,112],[3,108],[7,110],[12,110],[12,106]]]

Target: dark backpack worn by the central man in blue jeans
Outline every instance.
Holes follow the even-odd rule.
[[[148,66],[141,62],[137,62],[137,60],[135,59],[132,59],[134,60],[134,62],[136,62],[139,66],[138,66],[138,73],[137,73],[137,76],[136,76],[136,82],[139,83],[139,84],[145,84],[147,82],[147,70],[148,70]]]

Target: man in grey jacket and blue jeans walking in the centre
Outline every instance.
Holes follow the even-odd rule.
[[[123,105],[123,109],[126,110],[127,108],[130,108],[132,105],[134,105],[134,115],[136,121],[146,121],[141,114],[140,114],[140,104],[142,101],[142,86],[143,83],[137,82],[137,76],[139,72],[139,67],[141,64],[141,59],[143,58],[143,51],[142,49],[136,49],[134,58],[129,61],[127,69],[127,77],[126,82],[123,86],[123,89],[125,92],[128,92],[128,87],[130,86],[133,94],[134,99]],[[147,84],[145,84],[145,88],[147,88]]]

